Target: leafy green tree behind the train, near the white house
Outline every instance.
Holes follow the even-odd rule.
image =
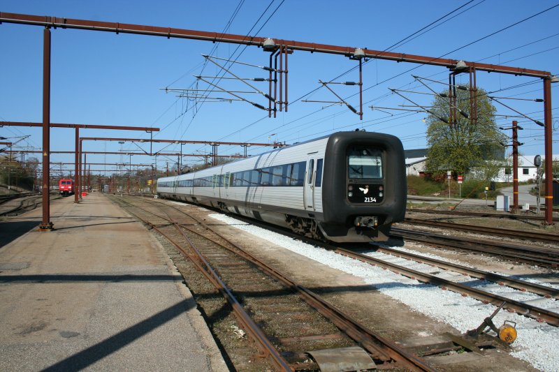
[[[449,112],[453,107],[447,92],[435,96],[427,118],[426,170],[432,174],[442,175],[448,170],[454,175],[466,174],[474,168],[484,170],[491,161],[502,161],[500,143],[507,142],[507,137],[498,131],[495,124],[497,110],[486,92],[477,89],[474,92],[477,96],[477,124],[472,124],[469,119],[472,115],[470,89],[467,88],[456,89],[458,114],[450,124],[445,122],[449,121]]]

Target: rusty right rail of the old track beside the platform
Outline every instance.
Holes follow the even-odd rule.
[[[159,202],[157,203],[159,204]],[[177,211],[180,211],[180,213],[182,214],[186,214],[184,211],[178,209],[173,205],[168,205],[168,207],[176,209]],[[187,216],[189,215],[187,214]],[[224,246],[224,248],[228,249],[229,251],[237,255],[240,255],[242,258],[245,258],[245,260],[252,262],[254,265],[259,267],[263,272],[272,276],[277,281],[285,285],[287,288],[296,290],[296,292],[298,292],[300,297],[302,297],[305,300],[305,302],[307,302],[307,304],[317,309],[319,313],[321,313],[322,315],[324,315],[325,318],[333,322],[333,324],[336,325],[336,327],[341,329],[342,332],[347,334],[347,336],[349,336],[354,341],[359,343],[359,345],[365,348],[365,350],[370,352],[377,359],[383,360],[384,362],[393,360],[395,362],[398,362],[398,364],[401,364],[402,366],[407,366],[407,368],[410,368],[415,371],[433,371],[432,367],[426,364],[419,357],[409,354],[409,352],[405,351],[396,343],[393,343],[392,341],[389,341],[388,339],[376,334],[375,332],[372,332],[370,329],[366,328],[365,326],[358,323],[356,320],[349,317],[349,315],[335,308],[333,304],[326,302],[326,300],[322,299],[316,293],[303,287],[303,285],[300,285],[295,281],[291,281],[291,279],[287,278],[287,276],[285,276],[284,274],[280,273],[273,267],[266,265],[266,263],[254,257],[254,255],[251,255],[250,253],[242,249],[240,246],[238,246],[237,244],[233,243],[232,241],[224,237],[222,234],[217,232],[215,228],[206,225],[205,223],[203,223],[203,221],[198,220],[198,218],[195,218],[194,216],[189,216],[189,217],[194,218],[204,228],[214,232],[217,236],[221,237],[229,244],[231,244],[231,246],[234,246],[236,251],[233,251],[231,248],[228,248],[226,246]],[[382,346],[379,347],[379,344]]]

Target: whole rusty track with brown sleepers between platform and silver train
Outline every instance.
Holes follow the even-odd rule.
[[[356,369],[376,365],[383,369],[432,370],[419,357],[366,329],[184,211],[162,202],[152,201],[147,209],[129,198],[115,200],[126,204],[126,209],[196,262],[224,295],[242,328],[260,345],[261,355],[272,360],[276,369],[312,370],[319,366],[309,362],[308,355],[318,362],[320,355],[328,353],[340,366],[349,359],[358,360],[359,354],[375,363],[367,366],[365,358]]]

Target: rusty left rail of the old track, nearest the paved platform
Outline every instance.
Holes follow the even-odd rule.
[[[215,288],[226,299],[228,304],[231,305],[231,308],[233,309],[233,312],[235,313],[237,319],[242,323],[242,325],[244,325],[243,328],[250,334],[252,339],[254,341],[256,341],[256,344],[258,345],[259,350],[261,352],[263,352],[263,355],[265,357],[270,357],[270,359],[274,362],[274,364],[277,366],[277,368],[279,370],[281,370],[281,371],[292,371],[291,367],[289,366],[289,363],[282,357],[282,355],[279,354],[279,351],[275,348],[274,345],[272,345],[272,343],[270,343],[270,340],[268,340],[268,338],[266,337],[266,334],[264,334],[262,329],[258,325],[256,325],[256,322],[254,322],[254,320],[252,320],[252,318],[250,318],[250,315],[248,315],[248,313],[245,311],[245,309],[242,308],[242,305],[238,302],[238,300],[233,295],[231,290],[229,290],[227,288],[226,284],[222,281],[222,279],[219,277],[219,275],[214,271],[214,269],[212,269],[210,263],[207,260],[205,260],[205,258],[201,254],[201,252],[198,251],[198,248],[196,248],[196,246],[194,246],[194,244],[191,242],[191,240],[186,235],[184,235],[184,232],[182,231],[180,226],[178,226],[177,223],[171,221],[171,218],[169,216],[168,216],[168,218],[164,218],[163,216],[159,216],[158,214],[154,214],[154,212],[152,212],[152,211],[147,211],[147,209],[143,209],[143,208],[138,207],[136,205],[133,205],[131,203],[128,203],[128,204],[131,205],[132,207],[142,209],[143,211],[145,211],[149,214],[153,214],[154,216],[157,216],[157,217],[159,217],[161,219],[164,219],[164,220],[168,221],[169,223],[173,224],[173,227],[175,228],[175,230],[178,230],[178,232],[180,232],[182,234],[182,237],[187,241],[189,246],[191,246],[192,251],[194,251],[194,253],[196,254],[194,257],[193,257],[193,255],[191,255],[190,253],[185,251],[184,248],[182,248],[182,246],[179,243],[177,243],[177,241],[175,241],[175,239],[170,237],[168,232],[164,232],[161,229],[161,227],[158,227],[157,225],[154,225],[150,221],[147,221],[145,218],[142,218],[142,217],[138,216],[138,214],[134,214],[133,212],[131,212],[140,221],[142,221],[146,225],[150,225],[151,228],[153,228],[155,231],[159,232],[159,234],[164,236],[171,244],[173,244],[173,246],[175,246],[175,248],[177,248],[186,258],[191,260],[191,262],[193,262],[194,265],[196,265],[196,267],[198,267],[198,269],[201,271],[201,273],[206,278],[208,278],[210,283],[212,283],[212,285],[215,286]]]

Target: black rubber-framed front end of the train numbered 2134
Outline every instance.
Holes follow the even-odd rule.
[[[386,241],[392,223],[405,217],[402,142],[382,133],[335,133],[324,158],[322,234],[337,242]]]

